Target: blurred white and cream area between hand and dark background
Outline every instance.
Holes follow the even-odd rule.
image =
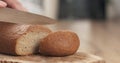
[[[56,19],[58,0],[19,0],[30,12]],[[43,4],[43,5],[41,5]]]

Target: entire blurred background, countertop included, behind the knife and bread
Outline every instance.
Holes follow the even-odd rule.
[[[29,12],[58,20],[53,30],[71,30],[79,51],[120,63],[120,0],[19,0]]]

